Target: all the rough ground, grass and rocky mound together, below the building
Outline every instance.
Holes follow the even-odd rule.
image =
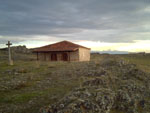
[[[135,60],[49,63],[19,53],[9,66],[0,55],[0,113],[150,113],[150,73]]]

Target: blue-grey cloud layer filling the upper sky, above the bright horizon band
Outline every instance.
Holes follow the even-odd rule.
[[[30,40],[30,35],[106,42],[148,39],[133,36],[149,30],[143,27],[150,25],[150,12],[144,12],[148,6],[149,0],[1,0],[0,35],[16,36],[19,41],[25,40],[22,36]],[[116,33],[86,36],[84,30]]]

